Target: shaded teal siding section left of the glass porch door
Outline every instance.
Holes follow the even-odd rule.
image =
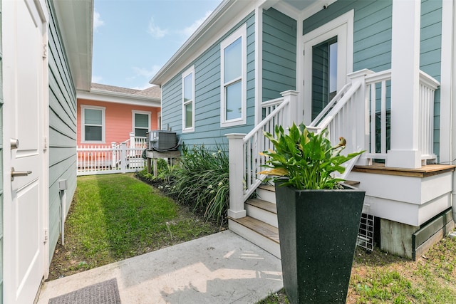
[[[263,100],[296,90],[296,20],[275,9],[263,13]]]

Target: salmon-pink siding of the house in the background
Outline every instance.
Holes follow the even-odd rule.
[[[105,142],[100,142],[100,145],[110,145],[111,142],[124,142],[130,138],[129,134],[130,132],[133,132],[133,111],[150,112],[150,130],[159,129],[158,112],[160,112],[160,108],[121,103],[106,103],[78,98],[78,145],[85,144],[84,142],[81,142],[81,105],[105,108]],[[93,145],[98,145],[98,143]]]

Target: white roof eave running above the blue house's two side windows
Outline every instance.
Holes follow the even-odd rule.
[[[224,0],[149,83],[160,86],[167,83],[263,3],[264,0]]]

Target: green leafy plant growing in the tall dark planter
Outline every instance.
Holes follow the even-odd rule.
[[[354,152],[342,155],[346,140],[340,137],[335,147],[327,138],[328,131],[319,134],[309,132],[304,124],[296,126],[294,123],[286,133],[284,127],[276,126],[275,137],[264,132],[274,145],[274,150],[264,151],[261,154],[270,157],[264,167],[269,169],[260,172],[277,176],[281,186],[291,186],[296,189],[338,189],[344,179],[334,176],[334,172],[343,173],[344,162],[363,153]]]

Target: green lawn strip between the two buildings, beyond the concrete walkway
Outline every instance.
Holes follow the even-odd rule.
[[[50,279],[214,234],[219,227],[133,174],[78,177]]]

